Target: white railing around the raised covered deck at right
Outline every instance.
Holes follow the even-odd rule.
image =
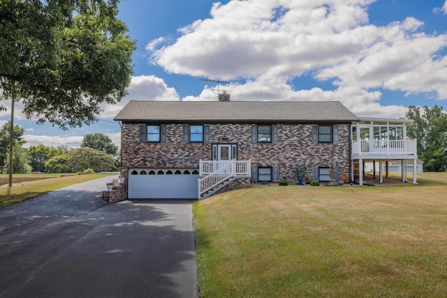
[[[416,140],[360,140],[352,143],[353,155],[415,155]]]

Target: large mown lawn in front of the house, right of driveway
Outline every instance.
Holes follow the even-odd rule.
[[[193,205],[202,297],[447,297],[447,174]]]

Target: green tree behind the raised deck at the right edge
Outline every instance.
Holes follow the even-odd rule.
[[[447,170],[447,114],[442,107],[409,106],[408,119],[414,122],[407,128],[406,134],[418,140],[418,156],[424,162],[427,171]]]

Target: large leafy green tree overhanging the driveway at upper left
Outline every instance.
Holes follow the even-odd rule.
[[[126,95],[131,40],[119,0],[0,1],[0,99],[62,129],[96,121]],[[5,107],[1,106],[3,109]]]

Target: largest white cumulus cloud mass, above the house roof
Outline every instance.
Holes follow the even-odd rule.
[[[247,0],[214,3],[210,18],[179,30],[151,61],[169,73],[242,80],[232,100],[340,100],[356,114],[402,117],[380,105],[377,89],[447,99],[447,35],[424,33],[407,17],[379,27],[367,10],[375,0]],[[443,8],[447,12],[447,1]],[[291,80],[312,73],[336,89],[300,90]],[[183,100],[213,100],[207,87]]]

